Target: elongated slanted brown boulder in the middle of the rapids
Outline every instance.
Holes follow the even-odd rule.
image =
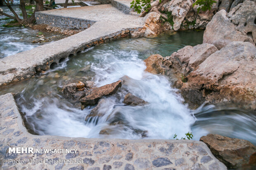
[[[118,90],[119,87],[122,86],[122,82],[121,80],[111,83],[111,84],[106,84],[104,86],[98,87],[98,88],[94,88],[92,89],[92,91],[86,95],[85,97],[80,99],[80,102],[84,105],[84,106],[88,106],[88,105],[96,105],[97,102],[106,95],[111,95],[116,93],[116,91]]]

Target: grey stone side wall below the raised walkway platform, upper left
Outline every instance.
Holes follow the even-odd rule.
[[[47,24],[54,27],[62,27],[67,29],[86,29],[92,26],[95,21],[90,21],[86,19],[79,19],[66,16],[56,16],[52,14],[44,14],[36,12],[36,23]]]

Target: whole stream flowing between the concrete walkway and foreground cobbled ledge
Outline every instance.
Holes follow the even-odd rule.
[[[17,93],[19,109],[26,126],[38,135],[89,138],[173,139],[192,132],[195,140],[217,133],[256,143],[256,113],[234,106],[201,106],[191,110],[172,88],[177,77],[145,72],[143,60],[152,54],[170,56],[186,45],[202,43],[203,31],[162,34],[154,38],[121,39],[101,44],[67,58],[57,68],[35,78],[0,88],[0,94]],[[124,80],[116,94],[107,96],[104,116],[86,122],[95,106],[81,110],[62,95],[65,84],[92,80],[102,86]],[[123,98],[132,93],[149,102],[126,106]]]

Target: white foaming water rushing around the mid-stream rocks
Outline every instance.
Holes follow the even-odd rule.
[[[135,131],[140,130],[147,131],[149,138],[172,139],[175,133],[182,137],[191,131],[190,126],[195,118],[182,103],[183,99],[176,93],[177,90],[171,88],[166,77],[145,72],[145,63],[138,58],[136,51],[96,51],[94,58],[97,63],[91,63],[91,70],[95,72],[97,86],[124,80],[122,88],[115,95],[106,98],[106,103],[101,108],[104,116],[97,123],[86,123],[85,117],[92,107],[82,111],[59,103],[57,98],[34,99],[33,107],[23,107],[22,112],[31,116],[43,109],[42,117],[36,121],[40,134],[104,137],[99,133],[107,129],[107,137],[139,139],[141,133]],[[125,106],[122,101],[128,92],[149,104]],[[121,124],[109,125],[119,120],[122,121]]]

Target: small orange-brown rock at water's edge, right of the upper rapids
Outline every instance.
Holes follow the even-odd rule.
[[[171,62],[168,61],[166,58],[162,57],[159,54],[153,54],[149,56],[149,58],[145,59],[144,62],[146,63],[146,70],[152,74],[161,74],[164,75],[166,68],[169,68]]]

